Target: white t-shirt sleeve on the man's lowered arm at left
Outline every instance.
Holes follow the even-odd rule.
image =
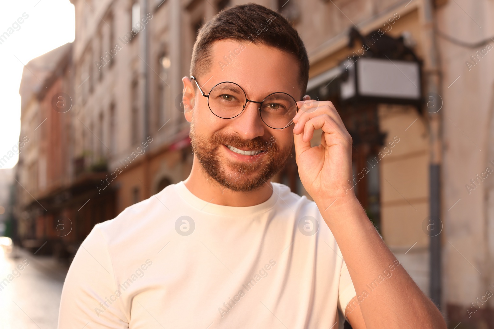
[[[96,225],[82,242],[65,279],[59,329],[124,329],[128,322],[122,311],[106,240]]]

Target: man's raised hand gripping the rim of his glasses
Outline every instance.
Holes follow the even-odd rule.
[[[352,138],[329,101],[297,102],[293,118],[295,160],[300,181],[316,201],[355,198],[352,190]],[[322,129],[321,145],[311,147],[314,130]]]

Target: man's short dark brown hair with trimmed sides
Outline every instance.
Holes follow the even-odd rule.
[[[199,30],[192,50],[191,75],[199,77],[209,72],[211,45],[221,39],[264,44],[293,54],[299,63],[299,86],[305,94],[309,80],[307,51],[297,31],[279,13],[251,2],[219,12]]]

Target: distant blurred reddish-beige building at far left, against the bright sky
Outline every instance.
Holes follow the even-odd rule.
[[[32,61],[23,71],[21,134],[16,165],[18,235],[26,248],[51,251],[61,208],[50,197],[71,181],[70,117],[52,109],[56,94],[71,89],[72,44],[67,43]],[[57,204],[60,203],[60,197]],[[44,240],[44,241],[41,241]]]

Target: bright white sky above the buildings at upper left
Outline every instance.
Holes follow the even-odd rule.
[[[29,17],[0,44],[0,158],[19,143],[24,65],[75,36],[74,5],[69,0],[0,1],[0,35],[23,13]],[[17,159],[16,154],[2,168],[13,167]]]

